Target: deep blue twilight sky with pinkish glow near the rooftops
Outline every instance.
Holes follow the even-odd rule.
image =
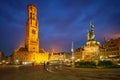
[[[84,46],[90,21],[96,41],[120,37],[120,0],[1,0],[0,50],[5,55],[24,44],[27,5],[38,9],[40,48],[69,51]]]

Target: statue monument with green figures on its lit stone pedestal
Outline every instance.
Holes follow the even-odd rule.
[[[87,42],[83,47],[82,60],[93,61],[99,59],[100,42],[95,40],[94,25],[90,22],[90,30],[87,34]]]

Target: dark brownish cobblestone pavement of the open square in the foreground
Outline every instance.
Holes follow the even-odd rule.
[[[120,69],[0,66],[0,80],[120,80]]]

